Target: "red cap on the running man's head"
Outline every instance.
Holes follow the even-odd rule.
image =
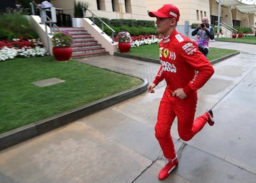
[[[176,6],[173,4],[164,4],[161,9],[158,11],[149,11],[149,16],[151,17],[159,17],[159,18],[176,18],[176,21],[179,19],[179,11]]]

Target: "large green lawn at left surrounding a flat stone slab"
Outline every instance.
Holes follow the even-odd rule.
[[[141,79],[54,57],[15,58],[0,62],[0,133],[105,98],[142,84]],[[56,77],[48,87],[31,84]]]

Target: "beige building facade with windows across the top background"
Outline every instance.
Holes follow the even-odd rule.
[[[63,9],[64,13],[70,14],[73,17],[75,0],[51,0],[55,7]],[[78,0],[76,0],[78,1]],[[104,18],[125,18],[136,20],[155,20],[150,18],[147,11],[156,11],[163,4],[169,4],[168,0],[79,0],[88,2],[88,9],[95,13],[97,17]],[[221,21],[230,26],[250,27],[256,26],[256,5],[247,5],[252,7],[252,12],[240,11],[238,6],[241,6],[241,0],[221,0],[222,6],[220,9]],[[250,0],[243,0],[248,3]],[[210,24],[217,25],[218,21],[218,0],[173,0],[172,4],[178,6],[181,17],[178,26],[191,25],[192,23],[201,23],[201,18],[207,16],[210,19]],[[243,4],[242,4],[243,5]],[[246,6],[246,7],[247,7]],[[253,9],[255,7],[255,11]],[[254,11],[254,12],[253,12]],[[87,11],[86,16],[91,16]]]

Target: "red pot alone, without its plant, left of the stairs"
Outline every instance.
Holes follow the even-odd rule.
[[[53,55],[57,61],[68,61],[72,55],[71,47],[53,47]]]

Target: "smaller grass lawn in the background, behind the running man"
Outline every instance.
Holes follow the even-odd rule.
[[[210,48],[208,59],[215,60],[225,55],[230,55],[233,52],[236,52],[236,50]],[[131,48],[129,52],[124,54],[159,59],[159,44],[143,45],[143,46]]]

